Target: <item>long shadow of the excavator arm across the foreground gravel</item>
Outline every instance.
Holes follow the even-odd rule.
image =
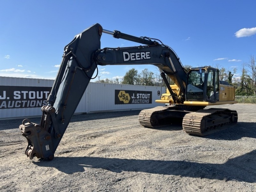
[[[111,172],[145,172],[163,175],[180,175],[182,177],[205,178],[216,180],[236,180],[256,182],[255,175],[256,150],[242,156],[228,159],[224,164],[198,163],[190,161],[163,161],[119,159],[104,157],[55,157],[51,162],[38,161],[34,164],[41,167],[55,167],[60,172],[73,174],[88,171],[85,169],[101,169]]]

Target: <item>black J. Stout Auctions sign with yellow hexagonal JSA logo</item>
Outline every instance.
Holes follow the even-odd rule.
[[[152,91],[115,90],[115,104],[152,103]]]

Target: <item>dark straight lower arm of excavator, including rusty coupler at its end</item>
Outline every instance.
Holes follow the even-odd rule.
[[[97,64],[92,60],[100,49],[99,24],[85,29],[64,48],[63,59],[47,99],[42,107],[40,125],[25,119],[20,125],[22,135],[28,140],[26,155],[33,159],[52,160],[69,121],[81,100]]]

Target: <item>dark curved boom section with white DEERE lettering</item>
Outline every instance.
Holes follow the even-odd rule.
[[[174,52],[165,45],[104,48],[95,52],[98,65],[155,65],[177,84],[185,95],[187,72]],[[170,91],[170,90],[169,90]],[[171,90],[172,92],[172,90]]]

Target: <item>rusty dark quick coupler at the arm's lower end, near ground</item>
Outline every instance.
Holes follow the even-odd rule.
[[[30,159],[33,159],[35,156],[45,160],[53,159],[54,153],[52,151],[50,133],[45,131],[40,125],[31,123],[29,119],[24,119],[19,128],[22,135],[28,140],[28,147],[25,151],[27,157]]]

